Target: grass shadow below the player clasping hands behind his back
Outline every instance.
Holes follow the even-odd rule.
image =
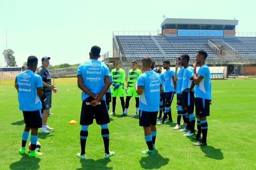
[[[108,158],[104,159],[81,159],[80,163],[82,165],[82,168],[77,168],[76,170],[85,170],[85,169],[98,169],[98,170],[112,170],[112,167],[107,167],[108,162],[111,160]]]

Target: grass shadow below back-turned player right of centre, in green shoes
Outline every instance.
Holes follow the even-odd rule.
[[[154,156],[148,155],[142,157],[140,166],[144,169],[160,169],[162,166],[168,164],[169,158],[163,158],[158,152]]]

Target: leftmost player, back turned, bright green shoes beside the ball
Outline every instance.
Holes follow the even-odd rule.
[[[21,72],[17,76],[19,109],[23,112],[25,122],[25,127],[22,132],[22,145],[19,152],[20,154],[25,154],[26,142],[28,140],[29,131],[31,130],[31,150],[29,157],[35,157],[43,154],[36,151],[36,142],[38,139],[38,128],[42,127],[42,103],[39,97],[42,97],[44,92],[42,78],[34,74],[38,64],[37,57],[29,56],[27,64],[28,70]]]

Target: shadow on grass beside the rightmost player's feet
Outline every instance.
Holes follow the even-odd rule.
[[[221,160],[224,158],[220,149],[215,149],[212,146],[200,146],[200,149],[205,153],[204,156],[212,159]]]

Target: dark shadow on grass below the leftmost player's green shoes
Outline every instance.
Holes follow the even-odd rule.
[[[22,156],[22,158],[19,161],[13,162],[12,164],[10,164],[10,169],[11,170],[40,169],[40,166],[38,164],[40,160],[41,160],[40,158],[35,158],[35,157],[29,158],[28,154],[25,154],[24,156]]]

